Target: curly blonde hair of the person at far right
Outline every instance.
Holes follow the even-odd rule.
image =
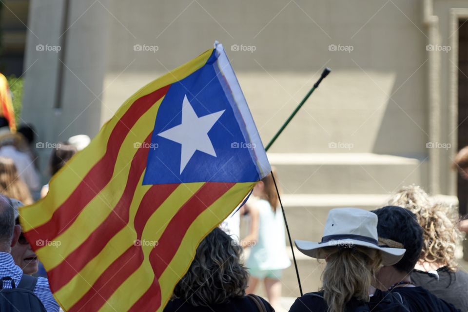
[[[424,230],[421,260],[438,262],[451,272],[457,271],[455,247],[462,234],[457,227],[458,213],[454,207],[434,200],[416,185],[403,187],[390,198],[389,205],[406,208],[416,215]]]

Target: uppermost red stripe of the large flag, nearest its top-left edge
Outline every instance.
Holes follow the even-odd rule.
[[[36,245],[36,241],[39,239],[53,240],[68,229],[83,208],[109,183],[123,140],[137,120],[167,93],[169,87],[170,85],[167,85],[133,102],[112,129],[105,155],[86,174],[73,193],[57,208],[49,221],[25,233],[33,250],[36,251],[41,247]]]

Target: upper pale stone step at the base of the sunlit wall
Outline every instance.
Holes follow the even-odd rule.
[[[388,194],[427,189],[428,162],[371,153],[268,154],[285,194]]]

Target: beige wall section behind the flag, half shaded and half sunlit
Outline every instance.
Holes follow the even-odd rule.
[[[273,152],[348,152],[329,148],[330,142],[344,142],[353,144],[351,152],[424,158],[428,109],[421,2],[393,2],[148,0],[135,6],[111,0],[101,121],[138,86],[217,39],[228,48],[264,142],[321,69],[332,68]],[[135,52],[134,44],[156,45],[158,51]],[[233,44],[255,51],[230,51]],[[329,51],[331,44],[353,50]]]

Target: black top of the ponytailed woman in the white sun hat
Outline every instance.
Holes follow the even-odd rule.
[[[403,298],[398,294],[376,290],[370,297],[370,302],[365,303],[357,299],[351,299],[346,305],[345,312],[408,312],[402,304]],[[289,312],[327,312],[328,306],[323,299],[323,292],[310,292],[299,297],[292,304]]]

